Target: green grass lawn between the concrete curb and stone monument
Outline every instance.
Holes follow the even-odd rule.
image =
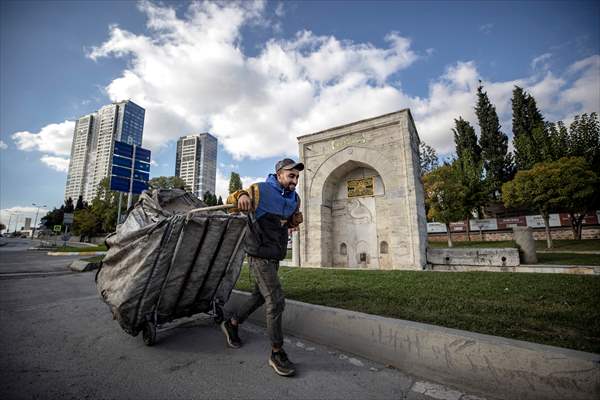
[[[600,276],[282,267],[289,299],[600,353]],[[247,266],[237,283],[250,291]]]

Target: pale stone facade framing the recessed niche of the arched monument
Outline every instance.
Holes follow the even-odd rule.
[[[375,170],[384,186],[377,197],[377,237],[389,256],[382,269],[422,269],[427,224],[419,167],[419,137],[408,109],[300,136],[305,165],[300,183],[304,224],[295,235],[302,267],[330,267],[336,250],[330,193],[357,166]]]

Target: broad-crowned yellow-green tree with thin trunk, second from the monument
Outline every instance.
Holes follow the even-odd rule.
[[[560,172],[560,163],[537,163],[533,168],[517,172],[515,178],[502,185],[502,200],[506,207],[527,207],[537,210],[546,227],[547,247],[552,248],[550,213],[561,208],[560,186],[567,184]]]

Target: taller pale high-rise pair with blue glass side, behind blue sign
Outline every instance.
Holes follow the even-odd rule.
[[[127,100],[106,105],[75,124],[65,198],[91,201],[110,175],[115,140],[142,145],[145,110]]]

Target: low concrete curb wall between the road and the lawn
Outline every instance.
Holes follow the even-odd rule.
[[[249,297],[234,291],[232,310]],[[251,316],[264,325],[264,309]],[[284,329],[426,379],[506,399],[600,398],[600,355],[287,300]]]

